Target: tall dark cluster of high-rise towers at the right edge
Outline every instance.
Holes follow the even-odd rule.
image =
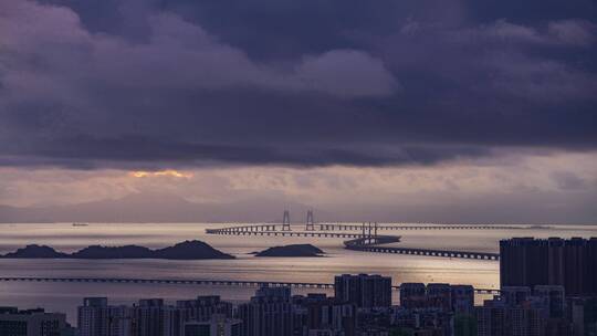
[[[597,238],[514,238],[500,242],[502,286],[562,285],[570,296],[597,294]]]

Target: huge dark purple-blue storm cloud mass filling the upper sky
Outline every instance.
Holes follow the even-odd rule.
[[[595,150],[595,4],[530,3],[3,1],[0,165]]]

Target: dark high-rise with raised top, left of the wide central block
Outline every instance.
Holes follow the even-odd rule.
[[[281,336],[293,333],[293,305],[289,287],[260,287],[238,308],[243,336]]]

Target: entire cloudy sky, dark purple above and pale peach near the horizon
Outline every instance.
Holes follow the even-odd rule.
[[[597,223],[596,18],[593,0],[2,0],[0,204]]]

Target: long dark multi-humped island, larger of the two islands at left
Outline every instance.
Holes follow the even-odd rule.
[[[233,255],[213,249],[209,244],[193,240],[174,246],[151,250],[137,245],[101,246],[92,245],[74,253],[57,252],[45,245],[27,245],[15,252],[0,255],[2,259],[167,259],[167,260],[203,260],[234,259]]]

